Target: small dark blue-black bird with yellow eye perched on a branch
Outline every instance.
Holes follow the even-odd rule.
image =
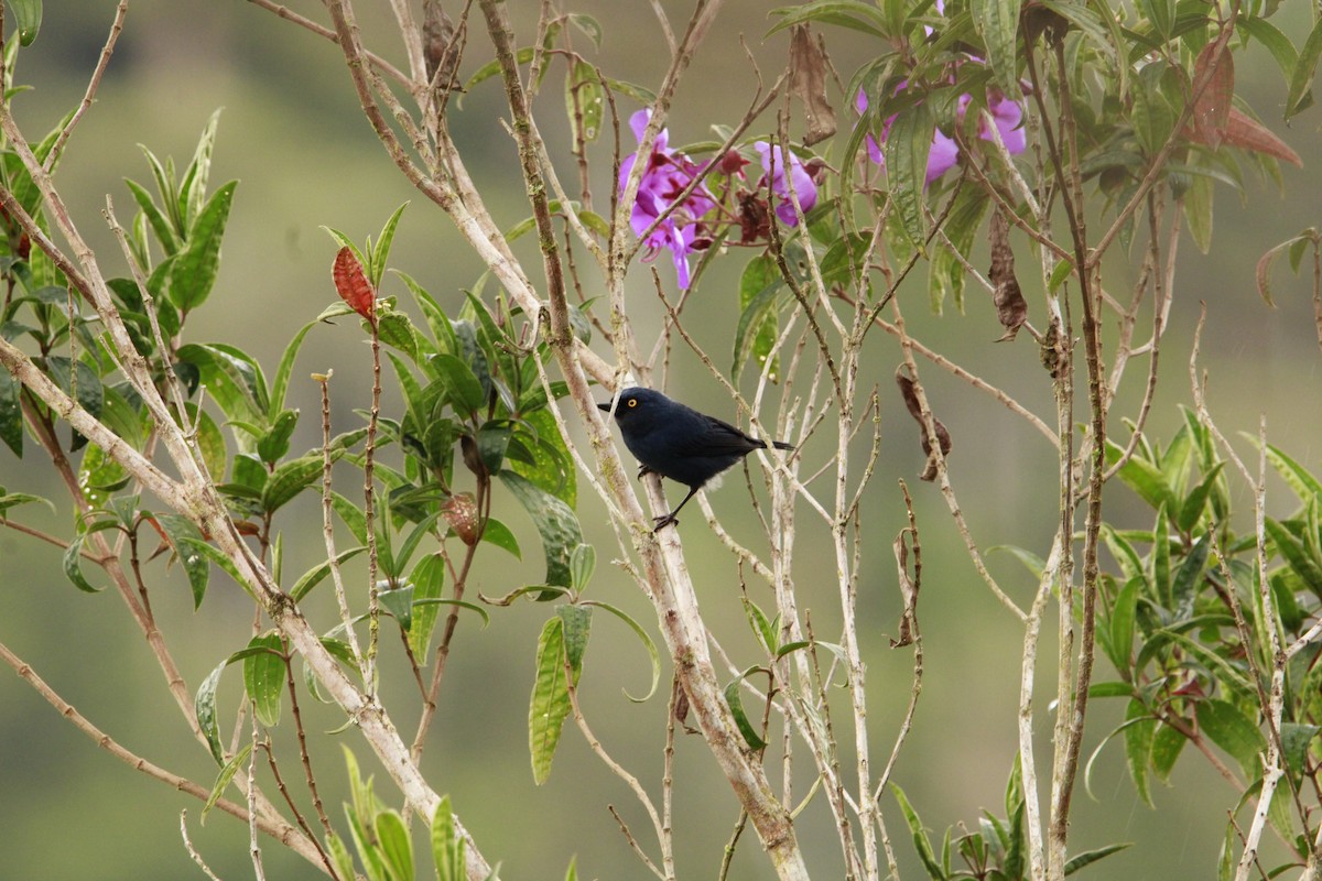
[[[609,402],[598,409],[611,412]],[[750,437],[715,416],[699,413],[652,388],[627,388],[615,407],[624,445],[639,460],[639,477],[660,474],[689,487],[689,494],[673,511],[653,518],[653,532],[677,524],[677,514],[694,494],[717,474],[767,442]],[[776,449],[792,450],[793,444],[772,441]]]

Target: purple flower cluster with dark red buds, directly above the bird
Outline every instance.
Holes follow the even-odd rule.
[[[650,110],[640,110],[629,118],[629,127],[633,136],[641,143],[642,132],[652,119]],[[804,164],[793,153],[781,151],[765,141],[756,141],[754,149],[761,157],[763,178],[758,185],[758,192],[768,192],[775,199],[775,214],[781,223],[796,226],[798,211],[795,210],[793,199],[798,201],[798,207],[806,213],[817,203],[817,185]],[[785,166],[785,156],[789,156],[789,166]],[[629,153],[620,164],[620,192],[624,192],[629,174],[639,161],[639,153]],[[739,198],[738,211],[726,210],[723,199],[718,199],[705,182],[693,185],[707,172],[709,164],[698,164],[685,153],[670,148],[670,136],[666,129],[657,132],[652,145],[652,153],[646,157],[639,181],[639,194],[633,201],[629,214],[629,226],[633,234],[645,236],[642,240],[645,254],[644,260],[654,260],[661,250],[669,250],[674,262],[676,275],[681,289],[687,289],[693,283],[693,271],[689,267],[689,256],[711,247],[715,238],[717,225],[722,218],[735,214],[743,226],[743,242],[748,243],[767,234],[765,222],[750,222],[750,215],[765,217],[768,214],[764,203],[758,203],[747,193]],[[718,160],[714,172],[722,173],[727,180],[743,178],[743,166],[748,160],[736,152],[727,153]],[[689,190],[687,195],[683,195]],[[791,195],[793,193],[793,197]],[[727,193],[728,195],[728,188]],[[682,198],[681,198],[682,197]]]

